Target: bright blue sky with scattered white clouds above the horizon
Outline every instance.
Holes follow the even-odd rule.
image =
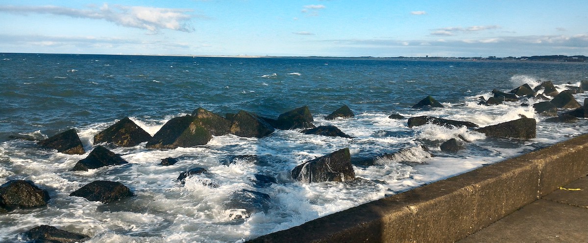
[[[0,0],[0,52],[588,55],[588,2]]]

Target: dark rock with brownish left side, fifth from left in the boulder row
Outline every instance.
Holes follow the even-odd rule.
[[[272,134],[273,131],[275,129],[268,122],[246,111],[239,111],[238,114],[233,116],[230,126],[230,133],[246,138],[263,138]]]

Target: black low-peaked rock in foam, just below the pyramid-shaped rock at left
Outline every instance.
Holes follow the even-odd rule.
[[[78,163],[75,164],[74,168],[72,168],[72,171],[88,171],[88,169],[97,169],[109,165],[123,165],[127,163],[128,162],[121,158],[120,155],[98,145],[92,150],[92,152],[90,152],[88,157],[80,159]]]

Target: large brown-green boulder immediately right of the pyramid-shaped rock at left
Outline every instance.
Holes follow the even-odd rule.
[[[153,138],[147,142],[147,148],[178,148],[205,145],[212,139],[211,132],[196,121],[191,115],[172,118]]]

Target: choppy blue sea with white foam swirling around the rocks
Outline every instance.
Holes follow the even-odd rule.
[[[583,79],[588,64],[564,62],[0,54],[0,184],[29,180],[51,197],[46,207],[0,214],[0,242],[24,242],[22,233],[39,225],[89,235],[86,242],[247,241],[585,134],[583,118],[544,121],[547,117],[533,109],[541,100],[534,98],[478,104],[493,89],[552,81],[563,91]],[[411,108],[428,95],[445,107]],[[583,104],[588,95],[574,97]],[[334,125],[353,138],[293,129],[265,138],[223,135],[192,148],[103,144],[129,164],[70,171],[97,145],[94,135],[127,116],[153,135],[169,119],[199,107],[222,116],[244,110],[277,118],[305,105],[316,126]],[[324,118],[342,105],[355,117]],[[537,137],[489,138],[437,125],[409,128],[407,119],[390,119],[391,114],[480,127],[524,115],[536,119]],[[44,139],[71,128],[86,154],[62,154],[10,138]],[[440,144],[451,138],[465,139],[465,148],[441,151]],[[350,149],[353,161],[397,156],[353,165],[353,181],[309,184],[291,178],[302,162],[342,148]],[[179,162],[159,164],[168,157]],[[184,184],[176,179],[196,167],[209,173],[192,175]],[[259,186],[259,174],[276,183]],[[96,180],[121,182],[135,197],[103,204],[69,196]]]

